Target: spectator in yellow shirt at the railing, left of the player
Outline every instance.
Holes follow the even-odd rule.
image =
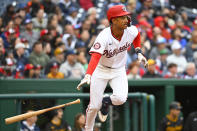
[[[59,72],[59,65],[57,62],[53,62],[50,65],[50,72],[47,74],[47,78],[49,79],[63,79],[64,74]]]

